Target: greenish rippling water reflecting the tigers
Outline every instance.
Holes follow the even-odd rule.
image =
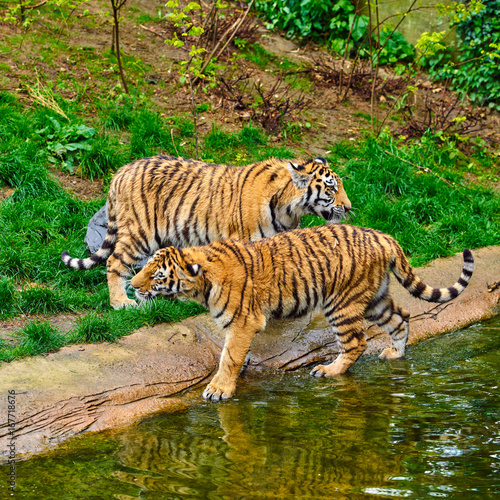
[[[497,318],[338,380],[244,377],[232,401],[18,463],[14,498],[499,498],[499,351]]]

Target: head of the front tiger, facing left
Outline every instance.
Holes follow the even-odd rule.
[[[158,295],[190,295],[201,276],[201,266],[186,264],[175,247],[158,250],[130,281],[140,301]]]

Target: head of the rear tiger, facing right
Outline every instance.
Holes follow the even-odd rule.
[[[342,179],[332,172],[323,157],[301,164],[289,162],[287,168],[294,185],[304,191],[301,204],[305,213],[338,223],[351,210]]]

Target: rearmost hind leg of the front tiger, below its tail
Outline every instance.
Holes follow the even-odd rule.
[[[380,353],[380,359],[404,357],[410,331],[410,313],[386,294],[372,301],[365,318],[383,328],[391,337],[392,346]]]

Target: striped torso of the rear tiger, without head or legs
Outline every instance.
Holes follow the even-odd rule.
[[[153,236],[147,239],[159,247],[165,242],[186,247],[229,238],[255,240],[295,228],[300,213],[277,216],[272,211],[280,207],[269,203],[277,189],[280,205],[297,194],[285,165],[279,160],[246,167],[170,157],[139,160],[133,170],[118,170],[111,182],[117,223],[132,219],[143,225]]]

